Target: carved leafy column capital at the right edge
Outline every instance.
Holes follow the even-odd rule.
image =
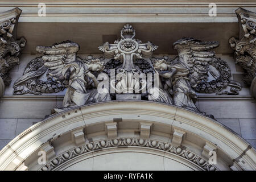
[[[240,26],[240,36],[239,39],[230,38],[229,44],[235,51],[236,64],[241,65],[245,71],[243,81],[246,85],[251,86],[251,94],[255,97],[256,87],[253,80],[256,74],[256,14],[241,7],[236,10],[236,14]]]

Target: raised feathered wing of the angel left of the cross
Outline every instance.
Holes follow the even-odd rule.
[[[58,80],[64,80],[63,68],[65,65],[76,60],[79,44],[65,41],[53,44],[52,46],[38,46],[36,51],[44,54],[42,60],[46,61],[44,65],[49,68],[49,76]]]

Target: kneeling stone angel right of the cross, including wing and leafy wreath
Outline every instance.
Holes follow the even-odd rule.
[[[174,59],[170,60],[168,57],[151,59],[155,71],[160,76],[159,97],[153,96],[153,101],[166,102],[200,112],[195,105],[196,92],[238,94],[241,90],[238,82],[230,80],[228,64],[216,58],[214,51],[210,51],[218,47],[218,42],[201,42],[193,38],[184,38],[177,40],[173,46],[179,54]],[[208,81],[208,73],[214,78],[212,81]],[[231,86],[231,92],[221,92],[228,85]]]

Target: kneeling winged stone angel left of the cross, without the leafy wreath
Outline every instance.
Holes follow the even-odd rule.
[[[44,54],[39,58],[40,63],[44,64],[36,71],[24,74],[15,82],[15,85],[28,80],[28,78],[42,75],[48,69],[48,75],[51,78],[67,87],[63,107],[54,108],[52,114],[71,107],[111,100],[109,93],[98,92],[99,81],[90,72],[103,71],[104,62],[100,59],[78,59],[79,45],[77,43],[66,41],[53,46],[38,46],[36,51]]]

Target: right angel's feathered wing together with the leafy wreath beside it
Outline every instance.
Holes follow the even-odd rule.
[[[174,43],[174,49],[179,53],[179,61],[188,67],[190,83],[196,92],[238,94],[242,87],[239,82],[230,80],[228,64],[216,58],[214,51],[210,51],[218,45],[217,41],[201,42],[193,38],[184,38]],[[208,72],[215,80],[207,81]],[[230,92],[221,92],[227,85],[230,86]]]

